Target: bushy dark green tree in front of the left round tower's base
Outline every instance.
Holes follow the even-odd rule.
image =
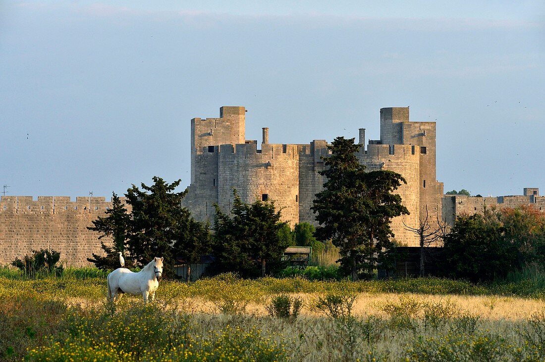
[[[246,204],[236,190],[233,195],[232,216],[215,205],[214,249],[220,271],[237,272],[243,277],[264,277],[281,261],[289,246],[279,232],[286,223],[280,222],[280,211],[276,211],[274,201],[256,199]]]

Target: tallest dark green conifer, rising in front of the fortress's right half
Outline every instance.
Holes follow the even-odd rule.
[[[403,177],[392,171],[365,172],[355,152],[361,145],[354,138],[335,138],[324,157],[323,191],[316,194],[312,211],[319,225],[318,240],[331,239],[339,248],[341,267],[358,280],[370,278],[377,260],[392,244],[390,220],[409,211],[401,197],[393,194]]]

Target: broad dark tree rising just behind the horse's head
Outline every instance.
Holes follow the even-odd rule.
[[[142,189],[132,185],[125,194],[132,207],[127,246],[139,266],[155,256],[164,257],[168,276],[174,263],[172,246],[183,234],[181,230],[190,226],[190,212],[181,206],[187,191],[174,192],[181,180],[169,184],[154,176],[153,181],[152,186],[141,183]]]

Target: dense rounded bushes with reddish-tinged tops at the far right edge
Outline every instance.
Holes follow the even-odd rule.
[[[545,215],[520,206],[459,216],[444,242],[446,277],[490,281],[527,268],[543,273]]]

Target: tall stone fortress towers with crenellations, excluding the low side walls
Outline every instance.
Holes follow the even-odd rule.
[[[322,189],[322,156],[329,151],[325,140],[309,144],[269,143],[263,128],[261,143],[245,139],[245,108],[221,107],[219,118],[191,120],[191,185],[183,200],[199,220],[213,220],[214,204],[231,208],[233,188],[241,199],[274,200],[290,225],[314,221],[310,210],[314,195]],[[365,145],[365,128],[359,130],[358,158],[367,170],[392,170],[407,180],[398,193],[410,214],[392,220],[397,242],[417,246],[413,232],[420,218],[441,215],[443,183],[435,176],[435,122],[409,121],[409,108],[380,109],[380,139]]]

